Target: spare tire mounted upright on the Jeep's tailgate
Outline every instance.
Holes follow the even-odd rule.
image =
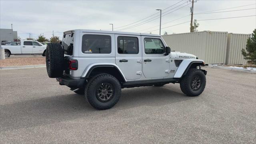
[[[63,74],[64,51],[59,43],[49,43],[46,47],[46,70],[50,78],[59,78]]]

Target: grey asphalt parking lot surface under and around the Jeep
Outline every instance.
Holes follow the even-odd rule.
[[[102,111],[45,68],[0,70],[0,143],[256,143],[256,74],[205,69],[198,97],[126,88]]]

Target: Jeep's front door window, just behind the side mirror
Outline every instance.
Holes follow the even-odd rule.
[[[164,45],[160,39],[157,38],[144,38],[144,47],[146,54],[163,54]]]

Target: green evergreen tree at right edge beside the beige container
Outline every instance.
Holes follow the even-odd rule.
[[[256,29],[254,29],[252,37],[247,40],[246,50],[242,49],[242,55],[244,59],[248,60],[248,63],[256,64]]]

